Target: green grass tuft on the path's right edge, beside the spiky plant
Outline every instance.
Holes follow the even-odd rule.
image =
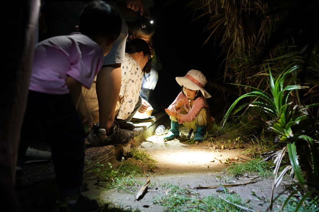
[[[243,173],[256,173],[262,177],[273,176],[273,164],[271,162],[260,161],[261,159],[254,159],[245,163],[235,163],[227,168],[227,173],[234,176],[241,176]]]

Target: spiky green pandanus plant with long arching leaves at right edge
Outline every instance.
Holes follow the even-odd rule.
[[[255,90],[253,92],[246,93],[240,96],[230,106],[224,116],[223,126],[228,119],[229,115],[234,111],[237,103],[246,97],[254,98],[255,100],[249,103],[245,103],[237,108],[234,113],[239,112],[245,106],[255,107],[271,117],[271,121],[268,121],[269,129],[275,133],[275,141],[283,144],[282,149],[278,151],[271,151],[262,154],[263,161],[274,160],[274,181],[272,183],[271,190],[271,202],[269,209],[272,209],[274,201],[273,191],[274,188],[279,185],[284,175],[290,170],[290,176],[295,175],[296,179],[305,192],[303,198],[300,200],[296,211],[301,206],[302,202],[309,196],[316,196],[319,194],[319,156],[318,156],[318,139],[319,139],[319,119],[314,118],[308,113],[308,108],[318,107],[319,103],[299,106],[293,105],[291,93],[293,90],[299,90],[308,88],[300,85],[285,85],[285,79],[288,75],[295,72],[298,65],[293,66],[289,70],[284,70],[277,76],[276,79],[271,75],[269,70],[270,80],[270,92],[267,93],[260,89],[250,87]],[[296,72],[295,72],[296,73]],[[247,85],[242,85],[247,86]],[[284,156],[288,153],[290,164],[282,163]],[[279,168],[283,165],[286,167],[281,171]],[[304,174],[305,173],[305,174]],[[288,200],[296,193],[294,191],[288,197]]]

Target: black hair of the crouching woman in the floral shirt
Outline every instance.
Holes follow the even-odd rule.
[[[135,52],[141,52],[141,51],[143,51],[144,55],[149,55],[148,62],[145,64],[143,68],[144,73],[149,73],[152,68],[152,58],[151,58],[150,47],[146,43],[146,41],[140,38],[136,38],[126,43],[125,45],[126,53],[133,54]]]

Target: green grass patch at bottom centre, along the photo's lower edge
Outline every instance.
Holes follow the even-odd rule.
[[[154,197],[153,202],[154,204],[163,206],[166,211],[244,211],[217,196],[207,195],[200,198],[198,193],[190,189],[168,183],[161,185],[161,187],[166,189],[167,195]],[[226,193],[223,195],[223,198],[235,204],[247,207],[237,194]]]

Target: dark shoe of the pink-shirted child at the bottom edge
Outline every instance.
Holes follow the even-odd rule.
[[[76,202],[73,204],[67,201],[57,201],[60,206],[60,212],[95,212],[99,210],[99,204],[96,200],[91,200],[86,196],[79,194],[75,197]]]

